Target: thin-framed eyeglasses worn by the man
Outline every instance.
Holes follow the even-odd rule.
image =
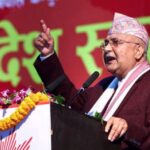
[[[136,42],[130,42],[130,41],[125,41],[125,40],[120,40],[120,39],[117,39],[117,38],[113,38],[111,40],[105,39],[104,42],[102,43],[102,45],[100,46],[100,48],[105,49],[105,47],[108,44],[110,44],[110,46],[116,48],[119,45],[124,44],[124,43],[140,45],[139,43],[136,43]]]

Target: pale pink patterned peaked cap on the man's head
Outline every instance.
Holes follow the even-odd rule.
[[[108,35],[114,33],[125,33],[134,35],[144,41],[146,46],[148,45],[149,36],[145,27],[140,24],[135,18],[115,13],[112,27],[110,28]]]

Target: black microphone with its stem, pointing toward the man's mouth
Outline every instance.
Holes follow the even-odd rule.
[[[66,104],[66,106],[71,106],[75,101],[75,98],[79,96],[86,88],[88,88],[99,76],[99,72],[95,71],[90,75],[90,77],[83,83],[82,87],[78,90],[78,92],[71,98],[70,102]]]

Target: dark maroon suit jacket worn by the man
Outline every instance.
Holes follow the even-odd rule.
[[[42,62],[37,58],[34,65],[45,86],[62,74],[65,75],[55,54]],[[75,110],[88,112],[113,78],[105,78],[76,96],[77,89],[66,76],[53,93],[64,96],[66,104],[71,104]],[[150,71],[138,79],[114,116],[124,118],[128,123],[128,131],[121,145],[122,150],[150,150]]]

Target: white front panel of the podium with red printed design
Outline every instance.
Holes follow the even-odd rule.
[[[15,108],[0,109],[0,119],[9,116]],[[50,150],[50,105],[37,105],[14,129],[0,132],[1,150]]]

